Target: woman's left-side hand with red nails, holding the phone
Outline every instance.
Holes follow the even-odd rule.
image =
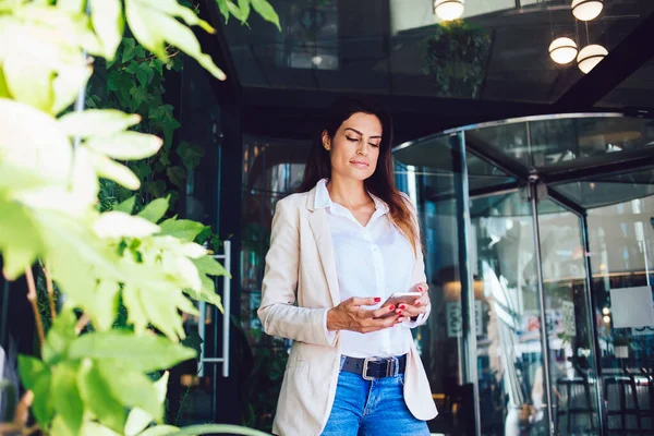
[[[403,322],[405,318],[396,313],[391,316],[388,313],[396,310],[395,306],[385,306],[374,311],[361,306],[373,306],[382,301],[380,298],[359,298],[352,296],[340,303],[338,306],[327,312],[328,330],[351,330],[360,334],[383,330]]]

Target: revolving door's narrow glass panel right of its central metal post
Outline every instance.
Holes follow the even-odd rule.
[[[600,386],[583,217],[550,199],[537,205],[556,435],[601,434]]]

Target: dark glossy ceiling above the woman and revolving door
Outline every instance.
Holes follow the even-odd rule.
[[[393,112],[396,143],[510,117],[654,109],[654,1],[604,0],[586,25],[571,1],[467,0],[484,13],[445,27],[407,9],[421,1],[431,13],[432,0],[272,0],[282,32],[254,15],[250,27],[222,25],[208,1],[211,55],[229,76],[217,89],[243,107],[247,131],[298,137],[336,96],[371,95]],[[601,44],[608,56],[589,74],[574,61],[558,65],[553,36]]]

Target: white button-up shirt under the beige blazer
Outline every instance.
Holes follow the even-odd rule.
[[[365,308],[378,308],[396,292],[411,291],[411,271],[415,256],[411,243],[388,215],[388,205],[371,195],[375,213],[366,226],[348,208],[331,202],[327,179],[316,185],[314,208],[326,208],[341,302],[351,296],[379,296],[382,302]],[[422,315],[421,315],[422,316]],[[420,323],[405,320],[384,330],[368,334],[341,330],[341,353],[352,358],[384,358],[409,352],[413,337],[410,327]],[[325,331],[332,341],[335,331]]]

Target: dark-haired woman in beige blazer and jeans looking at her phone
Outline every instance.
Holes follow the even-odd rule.
[[[336,101],[300,193],[277,203],[258,316],[268,335],[293,340],[278,435],[428,435],[437,414],[410,331],[431,305],[391,136],[380,107]],[[407,291],[422,296],[383,305]]]

